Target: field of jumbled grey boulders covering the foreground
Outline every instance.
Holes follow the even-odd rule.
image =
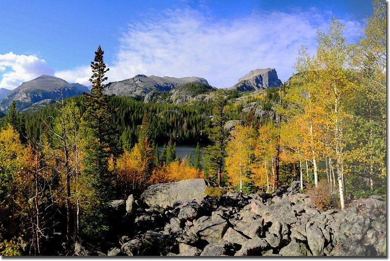
[[[385,201],[359,199],[345,210],[319,211],[297,183],[273,194],[229,192],[220,198],[196,194],[207,186],[201,179],[151,186],[133,199],[137,209],[123,210],[119,244],[107,255],[386,255]]]

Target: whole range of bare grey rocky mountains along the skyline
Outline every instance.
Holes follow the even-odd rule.
[[[194,84],[190,84],[194,83]],[[256,69],[238,80],[238,83],[228,89],[238,91],[253,91],[282,85],[275,69]],[[178,88],[182,86],[181,88]],[[195,90],[195,91],[194,91]],[[133,78],[108,83],[106,94],[125,97],[144,97],[145,102],[153,100],[154,95],[162,91],[170,91],[170,101],[176,104],[191,100],[210,98],[210,93],[216,90],[208,81],[199,77],[158,77],[138,74]],[[41,75],[34,80],[23,82],[19,87],[10,91],[0,89],[0,111],[6,112],[10,103],[15,100],[19,111],[39,110],[41,107],[62,98],[82,95],[89,92],[90,87],[79,83],[69,83],[60,78]],[[200,92],[199,92],[200,91]],[[2,93],[7,92],[5,97]]]

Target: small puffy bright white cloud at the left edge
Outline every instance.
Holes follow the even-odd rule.
[[[33,55],[0,54],[0,87],[14,89],[22,82],[42,74],[54,75],[54,69],[43,59]],[[1,75],[0,74],[0,75]]]

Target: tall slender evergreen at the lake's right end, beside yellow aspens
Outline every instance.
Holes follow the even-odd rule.
[[[225,129],[227,120],[225,107],[224,91],[219,89],[215,92],[215,100],[213,107],[213,127],[209,131],[209,138],[213,142],[212,145],[207,146],[205,151],[204,164],[206,172],[211,180],[215,181],[217,177],[218,185],[221,185],[221,175],[224,166],[224,159],[226,156],[226,140],[228,138],[228,131]]]

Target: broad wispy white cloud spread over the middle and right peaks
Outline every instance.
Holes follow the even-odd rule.
[[[204,77],[216,87],[233,86],[256,68],[276,68],[287,80],[301,45],[314,54],[317,30],[326,30],[329,12],[318,9],[287,14],[254,12],[246,18],[213,20],[194,9],[169,10],[165,15],[129,25],[109,80],[136,74]],[[347,39],[357,39],[362,24],[346,23]]]

